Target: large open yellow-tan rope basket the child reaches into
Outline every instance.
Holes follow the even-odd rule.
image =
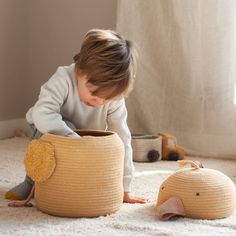
[[[35,180],[36,206],[66,217],[116,212],[123,202],[123,142],[113,132],[77,133],[80,138],[45,134],[28,151],[25,166]]]

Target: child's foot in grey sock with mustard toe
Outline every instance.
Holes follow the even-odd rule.
[[[9,200],[25,200],[29,196],[33,185],[34,181],[26,175],[24,182],[5,193],[5,198]]]

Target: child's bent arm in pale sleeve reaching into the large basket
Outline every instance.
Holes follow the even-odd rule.
[[[61,107],[69,92],[69,79],[59,67],[56,73],[41,87],[38,101],[27,113],[29,123],[34,123],[41,133],[79,137],[62,120]]]

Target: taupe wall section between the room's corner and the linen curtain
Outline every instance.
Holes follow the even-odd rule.
[[[89,29],[115,28],[116,0],[31,0],[28,11],[29,107],[37,99],[40,85],[57,67],[72,63]]]

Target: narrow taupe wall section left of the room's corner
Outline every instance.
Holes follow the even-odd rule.
[[[26,5],[26,0],[0,0],[0,121],[23,117],[26,110]]]

